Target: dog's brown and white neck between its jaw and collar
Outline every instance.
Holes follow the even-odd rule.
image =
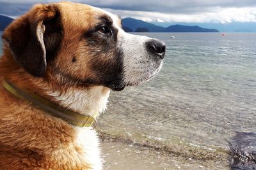
[[[102,86],[93,87],[67,87],[52,88],[52,85],[42,79],[27,79],[24,81],[13,80],[14,85],[20,89],[26,89],[34,92],[52,103],[55,103],[65,110],[74,111],[82,115],[96,118],[99,113],[106,110],[110,89]],[[48,81],[49,82],[49,81]]]

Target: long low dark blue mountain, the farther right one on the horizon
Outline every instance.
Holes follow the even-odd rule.
[[[171,25],[164,32],[219,32],[217,29],[205,29],[198,26]]]

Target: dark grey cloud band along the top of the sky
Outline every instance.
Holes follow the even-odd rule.
[[[6,1],[6,0],[2,0]],[[71,0],[72,1],[72,0]],[[49,3],[52,1],[38,1],[38,0],[12,0],[6,1],[7,3],[17,3],[19,6],[21,4],[34,4],[34,3]],[[56,2],[56,1],[55,1]],[[216,6],[221,8],[241,8],[246,6],[256,6],[255,0],[129,0],[129,1],[120,1],[120,0],[80,0],[74,1],[79,3],[86,3],[92,6],[97,6],[100,8],[111,8],[113,10],[131,10],[131,11],[157,11],[160,13],[202,13],[205,11],[211,12]],[[2,6],[2,5],[1,5]],[[3,8],[2,8],[3,9]],[[1,10],[0,8],[0,13]],[[23,8],[22,8],[23,9]]]

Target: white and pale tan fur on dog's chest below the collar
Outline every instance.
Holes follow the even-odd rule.
[[[74,127],[74,131],[76,132],[74,143],[63,146],[65,150],[62,147],[54,150],[51,159],[60,166],[61,164],[67,164],[68,167],[86,165],[92,170],[101,170],[103,159],[100,157],[97,132],[91,127]]]

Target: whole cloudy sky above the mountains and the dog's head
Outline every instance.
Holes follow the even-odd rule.
[[[71,0],[73,1],[73,0]],[[19,6],[17,13],[26,11],[26,6],[35,3],[56,1],[0,0],[0,13],[10,12],[5,6]],[[147,22],[221,23],[256,22],[256,0],[80,0],[120,15]],[[5,6],[3,5],[5,4]],[[10,5],[9,5],[10,6]],[[9,15],[15,15],[12,13]]]

